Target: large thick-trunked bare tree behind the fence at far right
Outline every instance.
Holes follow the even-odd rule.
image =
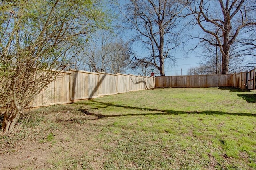
[[[222,54],[221,73],[229,72],[230,47],[240,43],[240,51],[255,49],[256,17],[255,2],[234,0],[234,1],[193,1],[189,5],[196,24],[207,34],[214,38],[198,37],[201,42],[208,42],[210,45],[220,49]],[[212,41],[214,40],[214,41]],[[245,47],[246,46],[246,47]],[[250,55],[250,53],[247,53]]]

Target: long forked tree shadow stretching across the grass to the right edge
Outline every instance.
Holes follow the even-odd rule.
[[[118,104],[111,104],[111,103],[104,103],[104,102],[97,102],[95,100],[91,100],[92,103],[86,104],[98,108],[107,108],[107,107],[122,107],[125,109],[135,109],[140,111],[150,111],[155,113],[129,113],[129,114],[113,114],[113,115],[102,115],[100,113],[91,113],[89,110],[91,109],[79,109],[82,113],[86,115],[94,116],[94,118],[83,119],[83,120],[97,120],[106,117],[121,117],[121,116],[147,116],[147,115],[180,115],[180,114],[201,114],[201,115],[232,115],[232,116],[253,116],[256,117],[256,114],[249,114],[249,113],[227,113],[221,111],[201,111],[201,112],[186,112],[186,111],[175,111],[175,110],[160,110],[160,109],[150,109],[150,108],[141,108],[141,107],[131,107],[131,106],[123,106]],[[96,108],[93,108],[96,109]],[[81,119],[79,119],[81,120]],[[59,120],[62,121],[62,120]],[[66,121],[78,121],[78,119],[70,119]]]

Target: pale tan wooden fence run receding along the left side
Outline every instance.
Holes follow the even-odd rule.
[[[67,104],[76,100],[146,90],[154,87],[154,77],[82,70],[63,71],[34,98],[32,107]]]

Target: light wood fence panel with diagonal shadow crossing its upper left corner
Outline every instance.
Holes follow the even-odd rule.
[[[117,74],[99,72],[98,96],[117,94]]]

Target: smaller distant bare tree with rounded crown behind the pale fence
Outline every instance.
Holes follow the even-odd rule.
[[[80,56],[80,62],[84,62],[92,72],[125,72],[130,63],[130,53],[127,43],[124,43],[117,35],[107,30],[100,30],[92,36]]]

